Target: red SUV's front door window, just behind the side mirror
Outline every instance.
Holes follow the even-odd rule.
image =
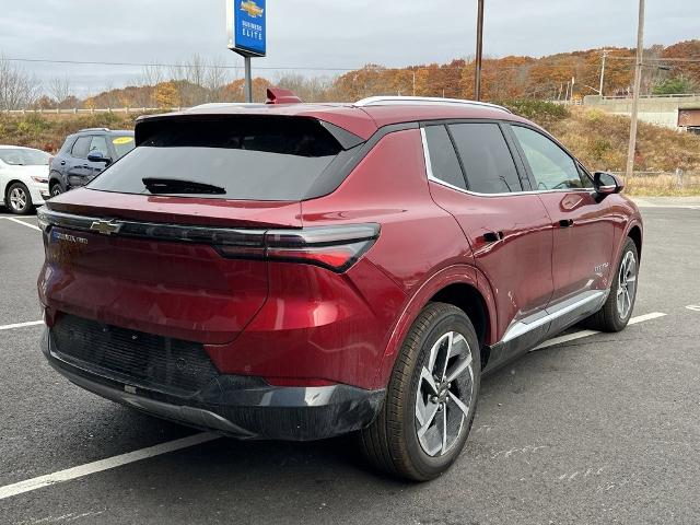
[[[535,177],[536,189],[583,188],[576,163],[555,142],[537,131],[512,126]]]

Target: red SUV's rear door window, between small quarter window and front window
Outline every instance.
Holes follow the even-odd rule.
[[[450,126],[467,176],[468,188],[479,194],[521,191],[520,177],[498,124]]]

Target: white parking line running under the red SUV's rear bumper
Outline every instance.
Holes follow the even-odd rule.
[[[47,474],[46,476],[39,476],[25,481],[5,485],[4,487],[0,487],[0,500],[22,494],[23,492],[40,489],[43,487],[48,487],[49,485],[62,483],[65,481],[70,481],[71,479],[82,478],[84,476],[90,476],[91,474],[102,472],[103,470],[128,465],[129,463],[148,459],[149,457],[160,456],[161,454],[167,454],[182,448],[200,445],[209,441],[218,440],[219,438],[221,438],[221,435],[214,434],[213,432],[202,432],[187,438],[182,438],[179,440],[161,443],[160,445],[149,446],[148,448],[141,448],[139,451],[128,452],[106,459],[88,463],[79,467],[67,468],[54,474]]]

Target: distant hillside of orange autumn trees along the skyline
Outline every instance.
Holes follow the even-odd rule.
[[[634,50],[606,48],[604,92],[630,92]],[[642,94],[700,91],[700,62],[678,59],[700,58],[700,39],[645,50]],[[603,49],[586,49],[546,57],[485,57],[483,98],[564,100],[595,94],[599,85]],[[105,90],[79,101],[74,96],[55,101],[43,96],[43,108],[177,107],[207,102],[243,101],[243,80],[232,79],[225,63],[194,55],[174,68],[145,68],[138,85]],[[265,89],[275,84],[294,91],[305,102],[354,102],[371,95],[418,95],[474,97],[475,63],[455,59],[448,63],[386,68],[370,63],[336,77],[283,75],[254,79],[254,100],[265,100]],[[571,84],[574,80],[573,85]]]

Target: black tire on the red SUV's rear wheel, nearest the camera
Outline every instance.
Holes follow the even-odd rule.
[[[463,340],[456,336],[453,336],[454,339],[448,339],[448,334],[451,332],[463,336],[467,348],[465,348]],[[441,388],[444,388],[441,396],[445,399],[442,404],[443,408],[440,408],[440,402],[432,400],[440,400],[441,397],[432,395],[423,397],[423,389],[428,388],[430,390],[432,387],[421,376],[423,368],[430,365],[429,361],[433,347],[438,348],[435,352],[438,358],[433,360],[434,370],[442,366],[442,364],[438,364],[439,361],[444,362],[440,353],[444,347],[438,346],[441,340],[447,346],[452,340],[458,341],[452,348],[462,352],[460,355],[447,358],[448,361],[444,364],[446,374],[451,371],[456,372],[459,370],[459,365],[466,363],[467,353],[471,359],[470,370],[464,369],[458,375],[459,378],[452,380],[448,389],[445,386],[447,385],[446,380],[441,384]],[[451,365],[450,363],[453,364]],[[412,481],[433,479],[450,468],[464,448],[471,429],[476,401],[479,395],[480,372],[479,342],[469,317],[462,310],[451,304],[428,304],[404,340],[392,372],[386,398],[378,416],[366,429],[360,432],[361,448],[369,462],[375,468],[392,476]],[[443,378],[444,375],[443,373]],[[425,401],[419,401],[419,389],[421,399],[425,399]],[[445,392],[447,393],[446,395]],[[452,396],[450,395],[451,393],[453,394]],[[463,409],[459,409],[454,396],[457,396],[464,402]],[[432,416],[425,419],[432,417],[433,419],[430,421],[435,424],[435,427],[431,427],[429,422],[423,425],[423,429],[429,427],[430,429],[420,439],[418,436],[419,422],[417,416],[417,405],[419,402],[423,404],[424,408],[424,412],[421,413],[427,415],[432,411]],[[465,415],[464,409],[467,407]],[[439,452],[440,455],[430,455],[425,452],[421,440],[427,440],[425,436],[429,435],[435,436],[435,431],[441,432],[440,429],[444,427],[440,427],[440,429],[436,427],[438,424],[443,424],[440,423],[440,418],[444,418],[444,421],[446,421],[444,424],[447,425],[458,420],[460,423],[457,428],[455,428],[455,424],[452,425],[452,430],[454,430],[453,436],[450,438],[452,444],[445,447],[446,440],[443,439],[442,450]],[[448,435],[450,432],[445,434]],[[434,440],[434,442],[441,443],[440,439]]]

